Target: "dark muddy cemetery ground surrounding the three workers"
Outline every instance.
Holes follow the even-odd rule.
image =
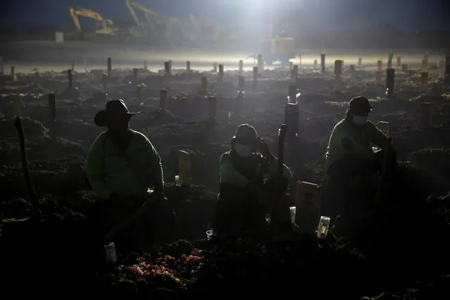
[[[176,71],[170,82],[168,112],[159,110],[158,95],[166,87],[158,73],[139,70],[144,87],[137,100],[131,70],[113,70],[108,98],[124,99],[133,129],[144,133],[161,155],[167,196],[179,218],[180,241],[153,254],[121,258],[118,268],[104,265],[101,244],[92,230],[96,201],[85,186],[84,159],[102,129],[94,125],[104,108],[101,73],[75,73],[68,89],[65,73],[0,77],[0,187],[4,218],[29,214],[30,193],[20,165],[18,134],[13,126],[16,99],[23,105],[23,127],[29,168],[44,217],[3,223],[1,259],[4,274],[18,299],[33,296],[98,295],[144,299],[161,296],[263,295],[276,290],[315,293],[319,299],[444,299],[449,296],[448,210],[450,191],[449,95],[430,65],[429,87],[420,89],[420,73],[396,71],[394,99],[375,85],[375,73],[344,70],[340,92],[333,92],[332,70],[311,68],[299,75],[299,136],[286,145],[286,163],[294,180],[323,186],[323,202],[335,194],[327,186],[323,155],[330,132],[346,111],[349,99],[372,100],[370,119],[388,121],[398,151],[400,172],[385,195],[389,209],[361,215],[352,235],[333,232],[320,241],[268,242],[254,238],[224,242],[204,239],[213,220],[218,192],[218,161],[229,149],[237,126],[250,123],[276,153],[277,129],[284,122],[289,70],[260,74],[253,91],[246,74],[246,96],[237,101],[237,74]],[[218,99],[218,117],[208,118],[207,100],[199,95],[201,76]],[[385,79],[383,79],[384,82]],[[50,131],[47,94],[56,93],[56,130]],[[420,103],[432,103],[433,126],[421,126]],[[17,103],[17,102],[16,102]],[[56,135],[56,139],[51,136]],[[189,196],[172,182],[177,175],[177,150],[192,154],[193,182]],[[292,188],[287,197],[294,201]],[[357,228],[355,230],[355,228]],[[190,240],[192,242],[187,242]],[[11,267],[10,267],[11,265]],[[261,287],[266,288],[261,290]],[[276,288],[275,288],[276,286]],[[27,288],[24,288],[27,287]],[[68,292],[68,291],[72,292]],[[280,292],[285,290],[286,292]],[[62,294],[61,294],[62,293]]]

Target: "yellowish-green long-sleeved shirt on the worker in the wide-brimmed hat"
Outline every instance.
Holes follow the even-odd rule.
[[[142,194],[149,187],[163,185],[163,167],[158,152],[142,133],[130,130],[132,137],[125,155],[101,133],[92,143],[86,159],[86,177],[96,194],[108,199]]]

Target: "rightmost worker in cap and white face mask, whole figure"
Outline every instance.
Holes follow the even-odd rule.
[[[370,207],[379,188],[385,151],[388,153],[384,179],[389,180],[395,173],[396,153],[389,137],[368,120],[370,111],[367,98],[351,99],[346,118],[335,125],[328,142],[325,170],[333,192],[327,196],[324,208],[333,213],[358,211],[358,206]],[[371,143],[380,149],[374,151]]]

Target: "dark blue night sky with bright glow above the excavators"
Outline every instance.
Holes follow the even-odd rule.
[[[274,0],[135,0],[158,13],[183,18],[189,13],[209,15],[226,23],[255,15]],[[112,20],[131,20],[125,0],[13,0],[1,1],[1,27],[71,25],[68,8],[89,8]],[[277,0],[298,11],[305,30],[371,27],[389,23],[402,30],[450,30],[450,4],[445,0]],[[258,5],[260,3],[260,5]],[[263,5],[261,5],[263,4]],[[253,7],[253,8],[252,8]],[[241,12],[239,15],[239,11]],[[251,22],[251,18],[246,20]]]

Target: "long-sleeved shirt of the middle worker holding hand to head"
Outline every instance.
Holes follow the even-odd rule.
[[[275,176],[278,172],[278,160],[275,158],[272,163],[265,165],[265,161],[261,156],[261,163],[256,168],[261,168],[264,173]],[[220,183],[228,183],[234,187],[246,187],[249,183],[249,179],[235,169],[235,165],[233,165],[230,158],[230,152],[225,152],[220,156],[219,176]],[[289,181],[292,180],[291,170],[285,164],[283,164],[283,177]]]

